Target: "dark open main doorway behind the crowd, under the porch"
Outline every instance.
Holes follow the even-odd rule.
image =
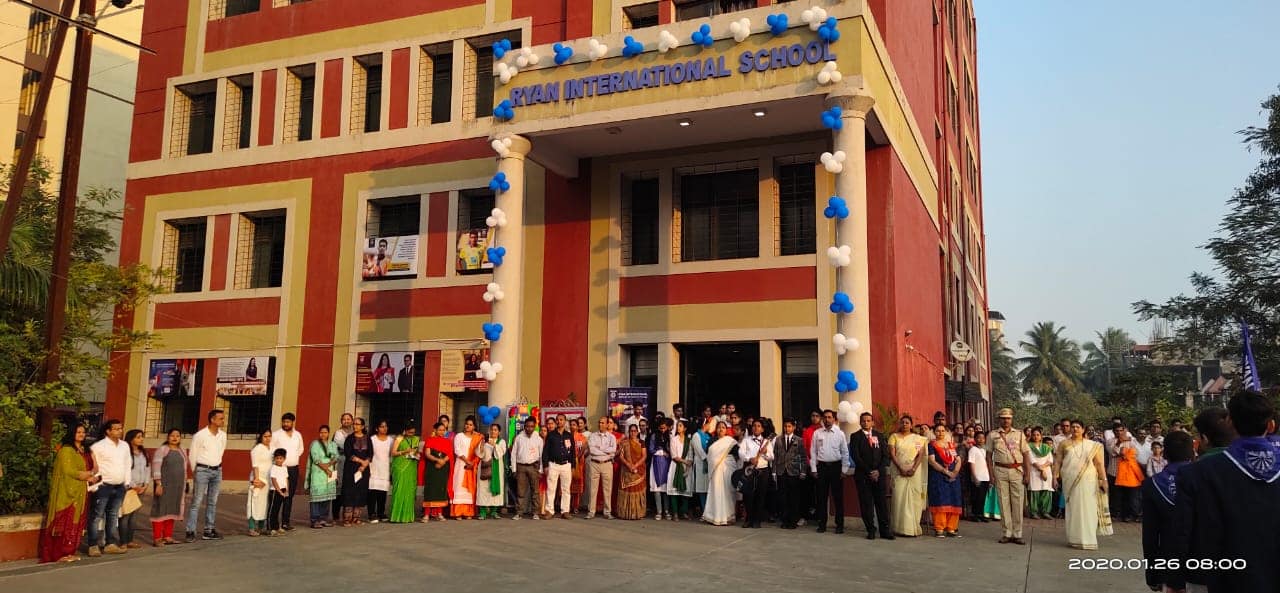
[[[733,403],[742,416],[760,412],[760,347],[755,342],[682,345],[680,401],[691,418],[703,406]],[[669,412],[669,411],[668,411]]]

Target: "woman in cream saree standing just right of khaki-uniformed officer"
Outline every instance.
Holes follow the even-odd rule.
[[[1084,423],[1071,420],[1071,437],[1053,455],[1053,475],[1066,501],[1066,543],[1078,549],[1098,549],[1107,471],[1102,465],[1102,443],[1084,438]]]

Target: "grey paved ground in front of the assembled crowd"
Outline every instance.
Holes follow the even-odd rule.
[[[294,506],[302,517],[306,505]],[[961,523],[961,539],[868,542],[852,517],[844,535],[598,517],[302,528],[248,538],[238,519],[243,497],[224,496],[219,508],[228,535],[221,542],[147,547],[74,565],[12,562],[0,565],[0,590],[96,592],[102,583],[129,593],[1147,590],[1140,571],[1068,569],[1073,557],[1139,557],[1137,524],[1117,525],[1100,552],[1080,552],[1066,547],[1061,521],[1029,521],[1025,547],[997,544],[998,524],[974,523]]]

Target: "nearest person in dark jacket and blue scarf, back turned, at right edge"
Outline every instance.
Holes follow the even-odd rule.
[[[1280,583],[1280,452],[1275,406],[1242,391],[1226,403],[1239,435],[1225,451],[1202,455],[1178,473],[1172,537],[1187,590],[1275,590]]]

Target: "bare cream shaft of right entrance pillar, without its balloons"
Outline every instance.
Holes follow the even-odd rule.
[[[854,313],[841,315],[837,330],[846,337],[856,338],[858,350],[837,356],[840,370],[851,370],[858,378],[858,391],[841,394],[842,401],[861,402],[863,409],[872,410],[872,336],[868,314],[870,293],[869,259],[867,250],[867,113],[874,105],[874,99],[867,91],[845,88],[828,96],[828,105],[841,109],[840,129],[833,132],[836,151],[845,152],[845,168],[836,175],[836,195],[849,204],[849,216],[836,219],[833,245],[852,247],[852,261],[836,274],[836,289],[849,295],[854,302]],[[829,298],[829,295],[827,296]],[[822,347],[832,347],[829,337]],[[835,384],[831,377],[827,386]],[[829,387],[828,387],[829,388]]]

